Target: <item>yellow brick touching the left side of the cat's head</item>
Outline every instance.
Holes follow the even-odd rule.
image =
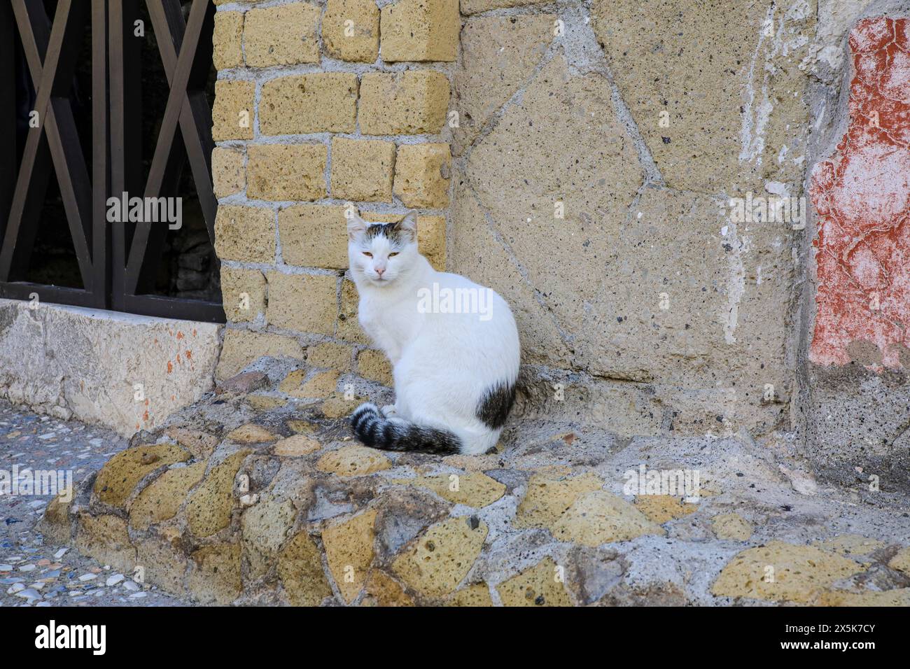
[[[346,269],[348,219],[338,205],[299,205],[278,212],[281,257],[288,265]]]

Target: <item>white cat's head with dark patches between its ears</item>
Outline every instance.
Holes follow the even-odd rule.
[[[355,279],[389,286],[414,268],[419,255],[414,213],[398,223],[370,223],[349,213],[348,259]]]

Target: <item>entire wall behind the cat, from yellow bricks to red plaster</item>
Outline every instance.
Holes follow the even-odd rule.
[[[825,458],[879,440],[893,461],[908,158],[904,130],[885,128],[904,127],[910,70],[905,33],[857,23],[905,3],[218,5],[219,376],[273,353],[388,382],[356,324],[344,209],[417,208],[437,267],[509,299],[525,418],[626,436],[798,430]],[[857,57],[870,74],[850,101]],[[882,132],[855,149],[864,195],[826,176],[848,106],[879,109]],[[869,209],[857,226],[875,250],[824,234],[838,188]],[[781,198],[793,218],[758,208]],[[831,308],[863,301],[836,278],[844,262],[825,264],[832,244],[870,286],[869,254],[891,254],[891,325]]]

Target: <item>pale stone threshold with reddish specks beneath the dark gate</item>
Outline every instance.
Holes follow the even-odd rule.
[[[222,326],[0,299],[0,398],[124,436],[211,390]]]

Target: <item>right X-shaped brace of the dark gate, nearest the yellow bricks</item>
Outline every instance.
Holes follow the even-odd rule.
[[[179,0],[147,0],[148,14],[157,36],[158,51],[167,76],[170,92],[158,132],[155,156],[148,173],[145,195],[157,198],[162,186],[182,157],[174,151],[177,123],[187,148],[189,165],[196,183],[197,197],[206,219],[208,237],[215,243],[215,213],[217,199],[212,189],[211,154],[212,117],[205,96],[205,86],[211,64],[211,44],[200,41],[201,35],[211,35],[215,21],[215,5],[210,0],[193,0],[189,20],[184,21]],[[140,277],[149,276],[147,263],[157,260],[164,230],[152,229],[155,223],[144,221],[136,226],[126,263],[126,291],[135,293]],[[154,251],[147,247],[151,245]]]

